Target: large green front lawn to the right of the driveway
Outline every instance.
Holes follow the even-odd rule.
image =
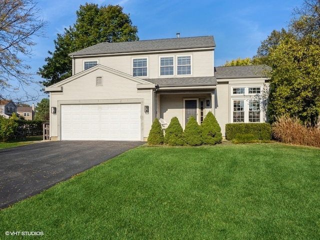
[[[0,229],[0,239],[13,239],[5,231],[43,231],[41,239],[318,239],[320,149],[137,147],[1,210]]]

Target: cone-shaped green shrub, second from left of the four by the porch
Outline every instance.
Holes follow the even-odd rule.
[[[183,129],[178,118],[172,117],[170,124],[165,129],[164,142],[171,146],[184,145],[182,138]]]

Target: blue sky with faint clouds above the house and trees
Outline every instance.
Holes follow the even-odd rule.
[[[56,34],[75,22],[75,11],[85,2],[124,7],[123,12],[130,14],[138,28],[140,40],[172,38],[176,32],[180,37],[213,35],[214,65],[219,66],[226,60],[255,55],[273,29],[286,28],[293,8],[301,6],[303,0],[38,0],[41,17],[48,24],[45,37],[33,39],[37,44],[28,59],[33,72],[45,64],[47,51],[54,51]],[[41,77],[35,75],[34,80],[40,81]],[[41,87],[32,84],[26,88],[30,94],[40,94],[37,102],[47,97],[40,92]],[[24,91],[17,94],[23,95]]]

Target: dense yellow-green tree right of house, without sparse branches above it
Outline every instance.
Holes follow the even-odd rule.
[[[298,116],[315,123],[320,113],[320,40],[281,41],[270,52],[272,62],[269,116]]]

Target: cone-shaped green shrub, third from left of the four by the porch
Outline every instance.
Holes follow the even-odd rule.
[[[185,125],[183,139],[185,144],[188,144],[189,146],[198,146],[202,144],[201,128],[194,116],[190,116],[189,121]]]

